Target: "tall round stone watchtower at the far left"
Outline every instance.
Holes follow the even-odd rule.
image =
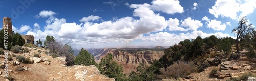
[[[12,20],[9,17],[3,18],[3,29],[7,27],[8,34],[12,34]]]

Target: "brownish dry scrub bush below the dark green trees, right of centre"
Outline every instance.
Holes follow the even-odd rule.
[[[170,78],[183,78],[189,75],[190,73],[196,72],[196,66],[193,62],[183,62],[181,60],[174,62],[173,65],[170,65],[166,69],[161,68],[160,72],[165,75],[164,77],[171,76]]]

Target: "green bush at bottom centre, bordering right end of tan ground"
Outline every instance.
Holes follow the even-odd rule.
[[[122,66],[113,61],[113,55],[110,53],[101,59],[99,70],[101,74],[110,78],[115,78],[115,80],[126,80]]]

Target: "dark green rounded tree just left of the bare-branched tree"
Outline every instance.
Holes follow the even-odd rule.
[[[225,54],[231,51],[231,42],[228,37],[221,39],[220,43],[218,44],[218,49],[223,50]]]

